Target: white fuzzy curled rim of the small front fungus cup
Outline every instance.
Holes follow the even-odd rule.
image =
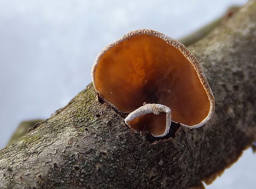
[[[165,131],[161,135],[154,135],[154,137],[163,137],[166,136],[170,130],[171,126],[171,109],[167,106],[164,106],[162,104],[145,104],[144,106],[140,106],[140,108],[137,108],[135,111],[130,113],[125,119],[124,122],[132,128],[128,122],[134,120],[135,118],[140,117],[141,115],[146,115],[148,113],[154,113],[156,115],[159,115],[159,113],[165,112],[166,113],[166,127]]]

